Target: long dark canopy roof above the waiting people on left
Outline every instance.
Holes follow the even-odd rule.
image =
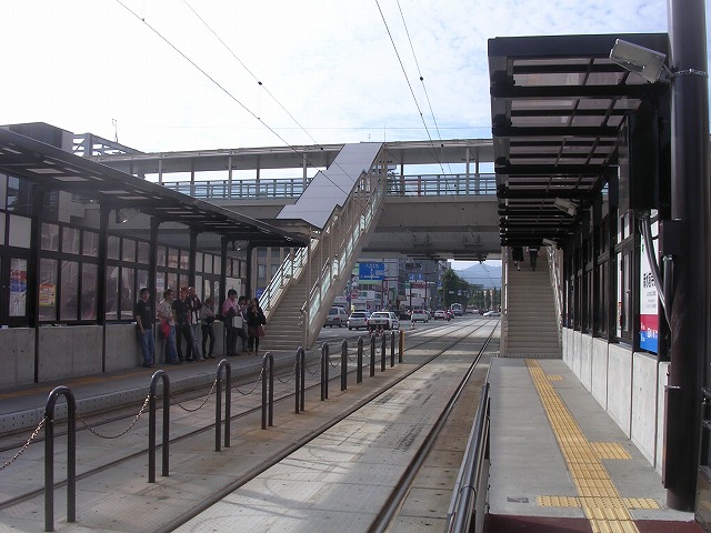
[[[308,239],[0,128],[0,172],[47,192],[64,191],[254,247],[304,247]]]

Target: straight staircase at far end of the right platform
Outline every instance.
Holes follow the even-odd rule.
[[[540,253],[535,271],[527,261],[508,269],[504,358],[560,359],[558,320],[548,254]]]

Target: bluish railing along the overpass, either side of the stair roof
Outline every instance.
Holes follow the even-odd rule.
[[[163,182],[167,189],[202,199],[283,200],[301,195],[311,178]],[[388,178],[392,197],[495,195],[495,174],[415,174]]]

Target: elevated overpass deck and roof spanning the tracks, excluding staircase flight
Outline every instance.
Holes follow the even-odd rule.
[[[353,169],[359,170],[350,171],[387,169],[387,187],[382,211],[362,245],[364,257],[458,260],[500,257],[490,140],[350,147],[367,144],[381,147],[379,154],[373,161],[361,162],[360,167],[356,163]],[[297,204],[309,190],[321,191],[319,203],[324,211],[339,205],[338,199],[343,194],[328,174],[343,164],[334,167],[333,162],[346,147],[102,154],[97,160],[246,217],[306,232],[309,225],[321,230],[324,220],[301,224],[300,214],[288,222],[279,215],[284,208],[293,209],[287,207]],[[481,172],[482,167],[488,167],[490,172]],[[318,179],[319,171],[327,173],[326,179]],[[279,177],[273,177],[274,173]],[[284,173],[292,177],[283,177]]]

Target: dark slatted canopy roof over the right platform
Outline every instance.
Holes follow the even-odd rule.
[[[665,33],[489,40],[502,245],[560,244],[573,234],[618,175],[625,115],[669,90],[611,61],[617,39],[668,50]]]

